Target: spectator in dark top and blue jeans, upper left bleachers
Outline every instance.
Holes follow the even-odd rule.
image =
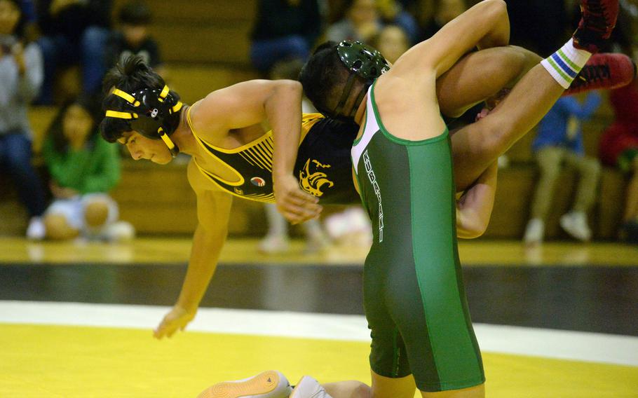
[[[57,71],[81,67],[81,91],[100,90],[106,72],[104,46],[109,36],[111,0],[39,0],[37,9],[43,36],[44,83],[40,104],[53,104]],[[73,90],[69,90],[73,91]]]

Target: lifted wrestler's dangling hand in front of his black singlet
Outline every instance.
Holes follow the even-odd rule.
[[[319,217],[323,207],[319,199],[299,188],[299,181],[292,174],[276,177],[274,181],[277,210],[291,224],[299,224]]]

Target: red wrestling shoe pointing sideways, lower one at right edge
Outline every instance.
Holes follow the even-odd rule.
[[[634,81],[636,70],[636,63],[627,55],[594,54],[563,95],[624,87]]]

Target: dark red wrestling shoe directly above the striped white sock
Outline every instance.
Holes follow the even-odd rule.
[[[581,0],[581,13],[581,22],[573,32],[573,46],[597,53],[616,27],[618,0]]]

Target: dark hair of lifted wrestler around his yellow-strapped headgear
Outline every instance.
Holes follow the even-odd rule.
[[[125,99],[110,93],[113,88],[130,93],[144,88],[162,90],[164,85],[164,79],[149,67],[142,57],[138,55],[127,57],[112,68],[107,76],[104,76],[102,91],[105,97],[102,101],[102,109],[105,112],[109,109],[126,109],[128,106]],[[171,90],[170,93],[179,99],[176,92]],[[171,114],[166,120],[170,126],[168,132],[175,131],[179,125],[179,112]],[[100,123],[100,134],[108,142],[116,142],[125,132],[131,130],[130,120],[127,119],[105,117]]]

